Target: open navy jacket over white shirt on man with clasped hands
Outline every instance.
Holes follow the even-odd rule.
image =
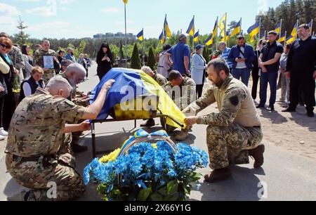
[[[239,58],[240,51],[236,46],[232,47],[232,50],[230,50],[230,54],[228,56],[228,60],[233,63],[232,68],[235,69],[237,66],[236,58]],[[252,46],[249,46],[248,44],[245,44],[244,46],[244,58],[247,58],[246,60],[246,66],[248,69],[252,69],[254,60],[256,59],[254,48]]]

